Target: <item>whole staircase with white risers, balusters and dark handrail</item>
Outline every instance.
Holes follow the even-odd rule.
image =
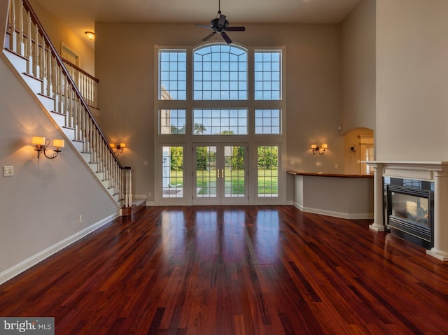
[[[122,166],[111,150],[28,0],[10,0],[3,55],[122,215],[130,215],[132,169]]]

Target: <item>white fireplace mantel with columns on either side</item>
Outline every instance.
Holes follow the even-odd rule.
[[[370,161],[374,171],[374,223],[370,229],[384,231],[383,176],[434,182],[434,248],[428,255],[448,261],[448,162]]]

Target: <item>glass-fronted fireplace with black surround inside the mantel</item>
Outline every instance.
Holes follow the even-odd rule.
[[[434,183],[391,177],[383,180],[386,228],[423,248],[433,248]]]

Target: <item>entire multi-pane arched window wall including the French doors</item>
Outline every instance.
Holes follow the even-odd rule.
[[[163,159],[155,183],[162,199],[195,204],[207,194],[219,197],[222,187],[241,201],[250,193],[276,203],[286,180],[279,173],[286,139],[282,48],[209,43],[157,52],[154,152],[155,162]],[[247,152],[244,168],[235,165],[241,157],[235,150]],[[193,163],[204,157],[207,166]]]

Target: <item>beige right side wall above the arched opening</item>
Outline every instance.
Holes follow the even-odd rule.
[[[375,127],[375,0],[363,0],[341,25],[342,134]]]

